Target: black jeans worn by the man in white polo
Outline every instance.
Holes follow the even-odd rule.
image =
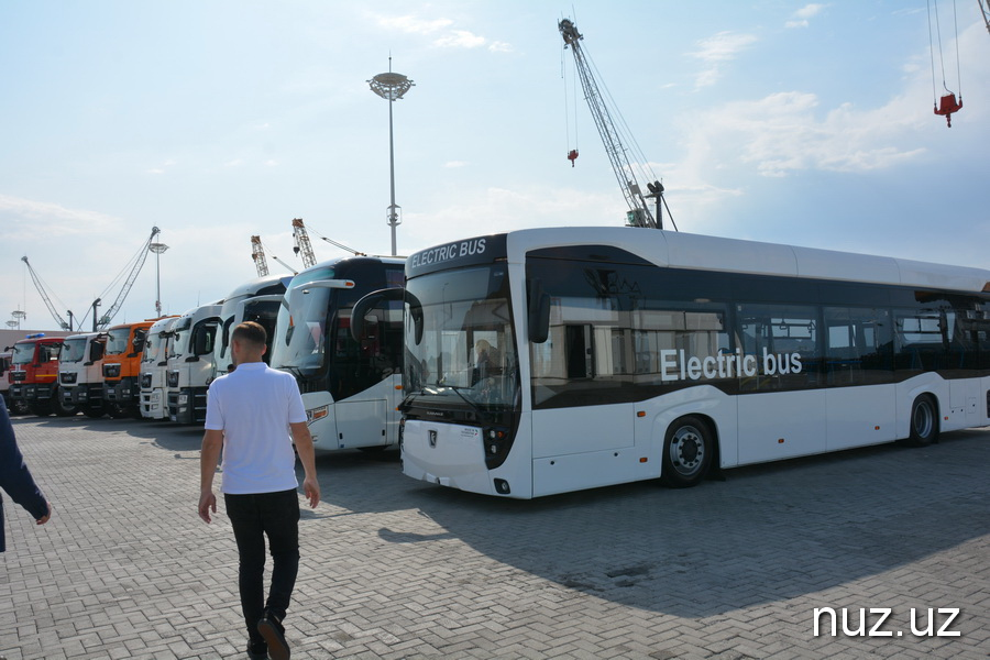
[[[224,494],[238,541],[238,586],[252,642],[262,641],[257,622],[270,610],[279,620],[288,609],[299,572],[299,496],[296,490],[251,495]],[[272,551],[272,587],[265,601],[265,535]]]

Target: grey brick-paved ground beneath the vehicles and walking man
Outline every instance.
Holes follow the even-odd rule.
[[[222,503],[196,515],[200,431],[14,427],[55,516],[7,501],[0,656],[246,657]],[[395,457],[321,458],[293,658],[986,659],[988,466],[983,429],[516,502],[415,482]],[[815,636],[825,607],[836,635],[825,614]]]

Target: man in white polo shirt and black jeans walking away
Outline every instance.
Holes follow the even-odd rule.
[[[265,329],[251,321],[231,333],[234,371],[213,381],[207,399],[200,454],[199,517],[217,513],[213,474],[223,450],[223,501],[238,543],[238,586],[248,626],[248,654],[288,660],[282,625],[299,572],[299,496],[296,458],[309,505],[320,501],[312,437],[296,380],[268,369]],[[292,440],[289,440],[292,433]],[[265,600],[265,536],[272,551],[272,585]]]

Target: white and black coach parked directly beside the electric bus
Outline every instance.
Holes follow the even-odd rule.
[[[317,453],[398,448],[402,302],[351,312],[371,292],[399,287],[405,260],[350,256],[319,263],[288,284],[275,321],[271,365],[296,376]]]

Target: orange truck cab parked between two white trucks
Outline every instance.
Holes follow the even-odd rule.
[[[141,419],[141,358],[147,330],[157,320],[120,323],[107,330],[103,405],[110,417]]]

